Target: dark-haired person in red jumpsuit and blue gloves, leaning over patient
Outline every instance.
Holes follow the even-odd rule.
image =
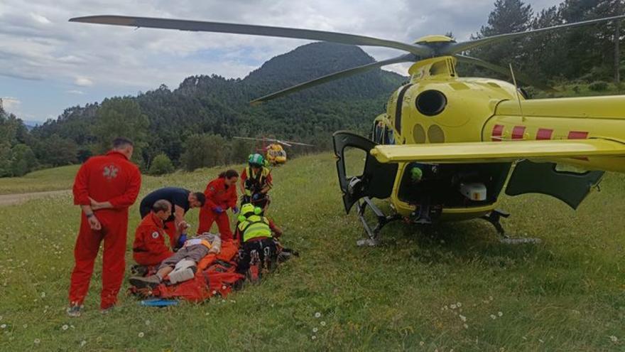
[[[206,203],[200,208],[200,225],[197,234],[207,233],[213,222],[217,223],[222,240],[232,240],[230,220],[226,210],[232,209],[232,213],[238,213],[237,208],[237,171],[228,170],[219,174],[219,177],[210,181],[204,194]]]

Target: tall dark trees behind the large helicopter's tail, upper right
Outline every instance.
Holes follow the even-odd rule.
[[[565,23],[625,14],[624,0],[565,0],[561,4],[534,12],[521,0],[496,0],[488,23],[472,38],[501,33],[528,31]],[[614,82],[620,84],[625,70],[619,45],[625,33],[622,21],[599,25],[549,31],[513,41],[484,46],[470,54],[550,82],[562,83]],[[477,68],[463,67],[465,74],[487,74]],[[599,85],[599,89],[602,85]]]

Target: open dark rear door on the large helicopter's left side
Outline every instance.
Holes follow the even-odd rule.
[[[343,204],[346,213],[349,213],[349,210],[360,198],[384,199],[391,196],[398,164],[381,164],[374,156],[369,154],[369,151],[376,144],[358,134],[343,131],[335,132],[335,134],[332,134],[332,141],[337,156],[339,187],[343,192]],[[362,175],[347,176],[345,159],[353,158],[351,155],[345,155],[345,149],[348,147],[362,150],[366,154]]]

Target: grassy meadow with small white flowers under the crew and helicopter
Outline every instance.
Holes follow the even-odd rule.
[[[217,171],[146,176],[142,193],[203,190]],[[376,248],[355,246],[362,228],[343,213],[332,155],[273,175],[271,215],[301,257],[226,300],[167,309],[121,295],[102,316],[98,263],[85,314],[67,318],[79,210],[70,196],[0,208],[0,351],[625,351],[623,175],[577,212],[504,197],[506,228],[540,245],[502,245],[473,220],[427,234],[394,223]]]

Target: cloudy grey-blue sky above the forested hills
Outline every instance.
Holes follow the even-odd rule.
[[[244,78],[275,55],[308,41],[69,23],[118,14],[293,26],[412,42],[452,31],[469,38],[494,0],[1,0],[0,97],[25,120],[55,118],[65,107],[136,95],[189,75]],[[535,12],[558,0],[526,1]],[[394,50],[364,47],[381,60]],[[387,69],[406,73],[402,66]]]

